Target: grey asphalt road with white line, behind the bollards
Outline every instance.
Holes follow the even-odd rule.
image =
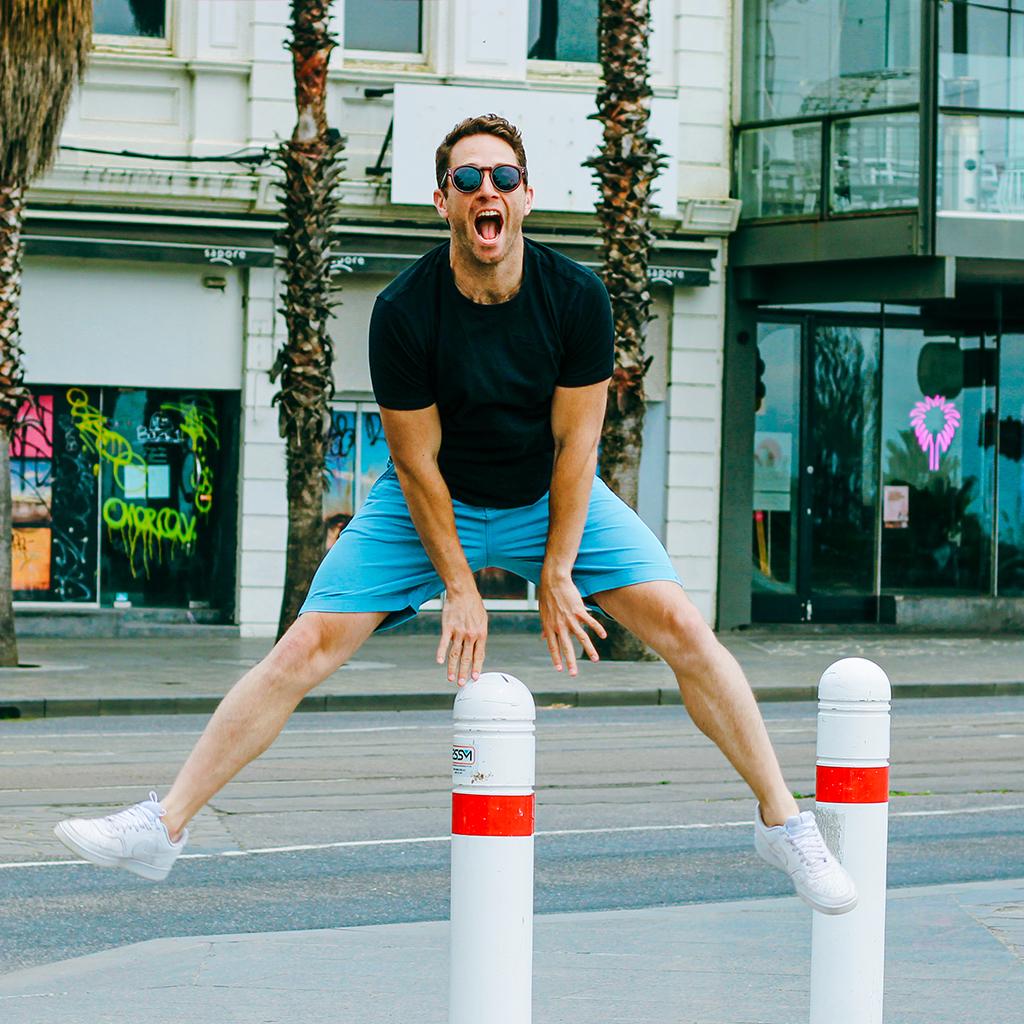
[[[812,794],[813,706],[763,711]],[[162,936],[446,916],[442,713],[297,717],[199,815],[163,884],[61,863],[53,822],[166,790],[203,722],[0,723],[0,973]],[[1024,877],[1022,754],[1024,698],[903,701],[890,884]],[[753,853],[745,786],[680,709],[542,710],[538,780],[540,913],[790,892]]]

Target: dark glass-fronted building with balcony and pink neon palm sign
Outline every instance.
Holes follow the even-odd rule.
[[[736,52],[720,625],[1020,628],[1024,5],[746,0]]]

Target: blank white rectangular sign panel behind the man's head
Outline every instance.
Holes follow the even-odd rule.
[[[594,95],[541,89],[489,89],[399,83],[394,88],[391,202],[429,204],[434,190],[434,151],[452,127],[477,114],[500,114],[522,130],[529,183],[538,210],[591,213],[597,202],[590,168],[601,126],[588,120]],[[678,191],[679,108],[675,99],[654,99],[651,134],[669,158],[657,179],[654,203],[674,212]]]

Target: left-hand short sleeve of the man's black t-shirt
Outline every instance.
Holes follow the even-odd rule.
[[[385,409],[426,409],[435,401],[430,387],[427,344],[402,312],[380,296],[370,317],[370,379]]]

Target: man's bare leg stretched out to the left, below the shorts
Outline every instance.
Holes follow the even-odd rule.
[[[172,842],[196,812],[276,738],[298,702],[344,665],[384,612],[307,611],[228,690],[161,801]]]

